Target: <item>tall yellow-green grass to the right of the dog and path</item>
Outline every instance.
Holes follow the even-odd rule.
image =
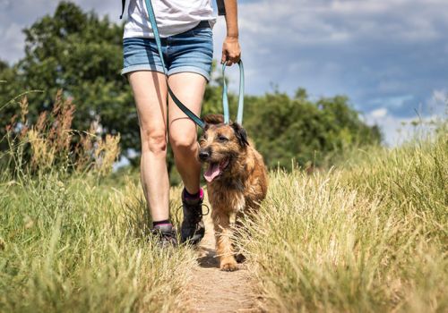
[[[271,174],[245,249],[268,311],[448,310],[448,135]]]

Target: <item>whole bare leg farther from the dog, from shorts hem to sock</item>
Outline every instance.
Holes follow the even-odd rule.
[[[141,179],[153,221],[168,219],[167,83],[159,72],[128,75],[134,92],[142,140]]]

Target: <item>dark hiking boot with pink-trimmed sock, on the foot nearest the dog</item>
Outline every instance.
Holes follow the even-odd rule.
[[[202,220],[203,190],[199,190],[199,199],[188,199],[185,191],[182,191],[182,209],[184,220],[180,228],[182,242],[198,244],[205,234],[205,226]],[[206,213],[208,214],[208,212]]]

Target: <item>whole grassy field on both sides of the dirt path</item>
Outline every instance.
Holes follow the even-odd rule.
[[[0,311],[182,311],[194,251],[151,241],[138,175],[108,174],[101,142],[85,143],[98,166],[68,171],[48,162],[66,140],[31,134],[30,165],[20,143],[0,155],[16,165],[0,172]],[[270,178],[242,242],[267,311],[448,311],[447,131]]]

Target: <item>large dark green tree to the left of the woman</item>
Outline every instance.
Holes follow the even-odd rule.
[[[104,132],[122,135],[122,148],[139,142],[138,123],[129,84],[121,77],[122,35],[120,25],[83,13],[75,4],[60,3],[56,12],[36,21],[25,33],[25,56],[12,67],[0,64],[0,104],[23,90],[39,89],[30,98],[30,116],[51,110],[57,89],[73,97],[73,127],[89,129],[99,120]],[[9,106],[2,115],[11,115]],[[3,119],[2,119],[3,120]],[[33,121],[30,121],[31,123]],[[4,131],[5,121],[1,122]]]

